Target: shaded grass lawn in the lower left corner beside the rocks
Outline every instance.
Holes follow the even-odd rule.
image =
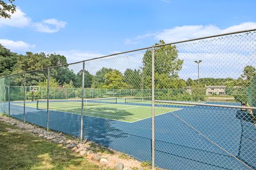
[[[70,150],[0,122],[0,169],[103,169]]]

